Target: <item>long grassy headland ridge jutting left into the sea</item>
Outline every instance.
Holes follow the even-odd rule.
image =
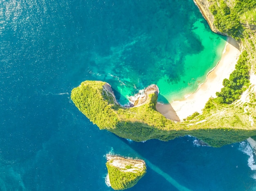
[[[221,147],[256,136],[251,121],[254,118],[248,120],[239,104],[216,105],[192,119],[176,122],[166,119],[156,110],[157,97],[157,86],[150,86],[146,88],[142,102],[136,102],[135,107],[124,107],[117,102],[111,86],[103,81],[83,81],[71,92],[76,107],[92,123],[101,130],[133,141],[168,141],[191,135],[213,147]]]

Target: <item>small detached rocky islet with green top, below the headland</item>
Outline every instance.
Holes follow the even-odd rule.
[[[144,160],[107,154],[108,178],[114,190],[133,187],[146,173]]]

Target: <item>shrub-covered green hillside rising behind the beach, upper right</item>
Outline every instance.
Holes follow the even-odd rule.
[[[250,75],[256,71],[256,1],[255,0],[207,0],[209,10],[214,16],[216,28],[234,37],[243,50],[236,64],[236,69],[229,79],[224,79],[223,88],[216,92],[217,98],[210,99],[204,111],[212,108],[236,106],[247,110],[248,116],[254,116],[256,105],[254,85],[250,85]],[[249,103],[237,101],[248,90]],[[235,102],[236,101],[236,102]],[[233,105],[231,105],[233,104]],[[251,123],[253,125],[254,123]]]

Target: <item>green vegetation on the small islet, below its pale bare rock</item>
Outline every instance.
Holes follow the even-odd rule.
[[[126,168],[122,168],[122,160],[127,162],[127,159],[123,158],[120,160],[120,158],[121,157],[118,157],[117,161],[119,167],[113,165],[113,161],[107,161],[106,163],[110,184],[114,190],[124,190],[133,187],[146,173],[145,162],[139,161],[142,164],[141,168],[135,167],[132,162],[129,162],[129,165],[126,165]]]

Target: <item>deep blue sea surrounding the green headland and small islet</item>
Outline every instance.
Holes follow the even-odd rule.
[[[211,33],[192,0],[0,1],[0,190],[112,190],[104,179],[110,151],[147,161],[130,190],[256,190],[246,142],[130,142],[99,130],[70,100],[84,80],[108,81],[121,101],[163,75],[179,83],[188,56],[207,50],[199,29]],[[214,61],[225,38],[211,35]]]

